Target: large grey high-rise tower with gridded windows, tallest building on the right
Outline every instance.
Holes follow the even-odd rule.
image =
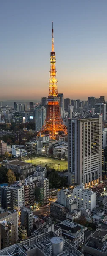
[[[85,186],[102,180],[102,115],[68,120],[68,180]],[[73,177],[74,179],[74,177]]]

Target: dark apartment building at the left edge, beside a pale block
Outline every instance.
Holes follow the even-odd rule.
[[[1,207],[8,211],[13,210],[13,189],[11,187],[1,187]]]

